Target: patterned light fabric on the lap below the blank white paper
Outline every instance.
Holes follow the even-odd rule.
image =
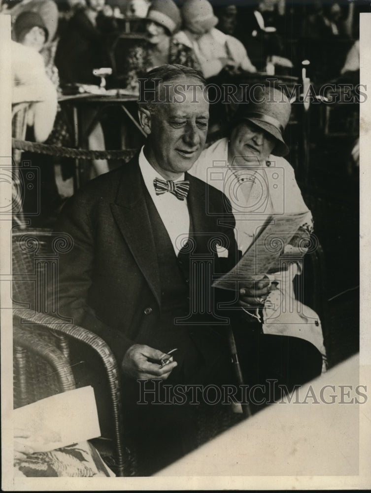
[[[15,477],[115,476],[89,442],[31,454],[26,459],[16,460],[14,467]]]

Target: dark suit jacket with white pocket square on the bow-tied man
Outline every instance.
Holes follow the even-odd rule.
[[[228,199],[194,176],[186,179],[196,253],[209,253],[216,234],[224,237],[229,256],[214,253],[214,265],[216,272],[227,272],[237,255]],[[71,197],[55,228],[73,240],[60,257],[59,313],[100,335],[119,365],[136,340],[145,343],[142,334],[156,331],[162,308],[144,187],[136,156]]]

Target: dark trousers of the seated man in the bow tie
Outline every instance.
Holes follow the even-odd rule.
[[[254,393],[255,399],[250,401],[254,413],[279,400],[295,385],[304,384],[321,373],[321,354],[303,339],[265,335],[259,330],[236,331],[235,337],[244,383],[249,388],[260,386]],[[227,415],[232,414],[230,405],[222,401],[212,403],[216,398],[215,388],[203,393],[202,389],[193,387],[185,391],[185,402],[179,403],[182,399],[178,398],[176,403],[172,392],[179,382],[184,384],[178,369],[176,378],[170,375],[164,382],[123,383],[127,445],[135,449],[140,476],[149,476],[197,448],[202,436],[216,434],[203,427],[219,426],[222,431],[226,428]],[[214,365],[199,368],[187,383],[203,389],[207,385],[217,386],[222,396],[225,396],[223,386],[235,386],[237,400],[242,398],[243,401],[245,395],[237,387],[227,353],[225,357],[219,355]],[[247,395],[251,397],[251,393]],[[142,404],[137,404],[138,401]],[[236,420],[230,421],[234,422]]]

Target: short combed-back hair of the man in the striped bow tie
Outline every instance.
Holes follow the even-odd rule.
[[[179,64],[161,65],[156,69],[149,70],[143,78],[139,78],[139,107],[153,110],[155,103],[160,100],[160,84],[175,81],[186,77],[196,79],[200,84],[206,86],[206,81],[199,70],[184,67]]]

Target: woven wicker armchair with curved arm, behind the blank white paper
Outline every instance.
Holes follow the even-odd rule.
[[[40,376],[37,358],[25,358],[24,351],[34,354],[38,349],[30,349],[33,342],[41,341],[44,359],[52,367],[61,368],[57,372],[59,385],[54,382],[54,390],[74,388],[75,382],[76,387],[94,387],[99,396],[96,400],[101,430],[109,423],[102,433],[104,439],[94,445],[118,476],[134,475],[135,457],[123,445],[120,374],[115,357],[96,334],[59,318],[56,300],[49,299],[50,292],[57,292],[53,286],[58,285],[58,257],[71,247],[71,238],[50,230],[21,230],[13,232],[12,240],[17,405],[42,398],[39,391],[31,390],[30,378],[24,378],[26,369],[36,379]],[[46,373],[45,369],[42,371]],[[97,387],[97,382],[102,382],[101,387]]]

